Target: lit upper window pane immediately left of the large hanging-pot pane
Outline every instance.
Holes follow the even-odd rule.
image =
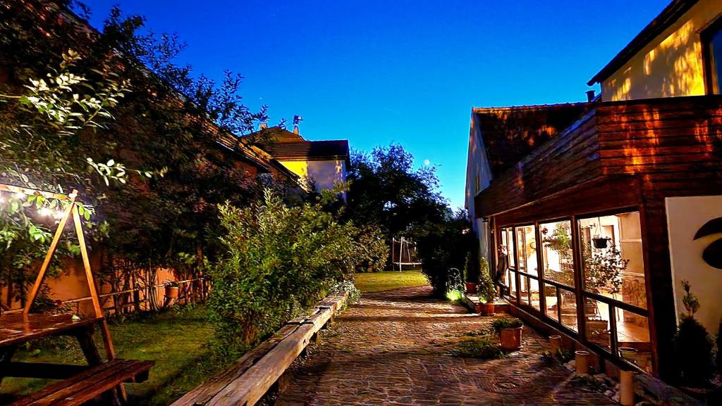
[[[544,278],[574,286],[572,225],[570,221],[540,224]]]

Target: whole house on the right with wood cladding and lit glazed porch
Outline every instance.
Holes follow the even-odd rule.
[[[589,102],[472,110],[467,202],[513,312],[663,378],[681,281],[722,318],[720,16],[672,1]]]

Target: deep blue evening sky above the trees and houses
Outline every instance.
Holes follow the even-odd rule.
[[[188,44],[180,61],[245,76],[271,121],[302,115],[308,139],[352,148],[399,142],[439,166],[464,205],[471,107],[585,100],[586,81],[669,0],[87,0],[147,17]]]

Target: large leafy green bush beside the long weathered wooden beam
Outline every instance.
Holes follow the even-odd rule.
[[[211,272],[209,306],[220,348],[256,343],[370,260],[360,229],[340,224],[323,204],[288,207],[266,190],[248,207],[219,207],[227,255]]]

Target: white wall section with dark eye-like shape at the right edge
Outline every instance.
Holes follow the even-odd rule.
[[[722,217],[722,195],[666,198],[669,252],[677,317],[684,313],[681,281],[690,281],[692,294],[700,299],[700,311],[695,314],[708,332],[718,330],[722,318],[722,270],[713,268],[702,259],[702,252],[722,233],[695,240],[695,234],[705,223]]]

